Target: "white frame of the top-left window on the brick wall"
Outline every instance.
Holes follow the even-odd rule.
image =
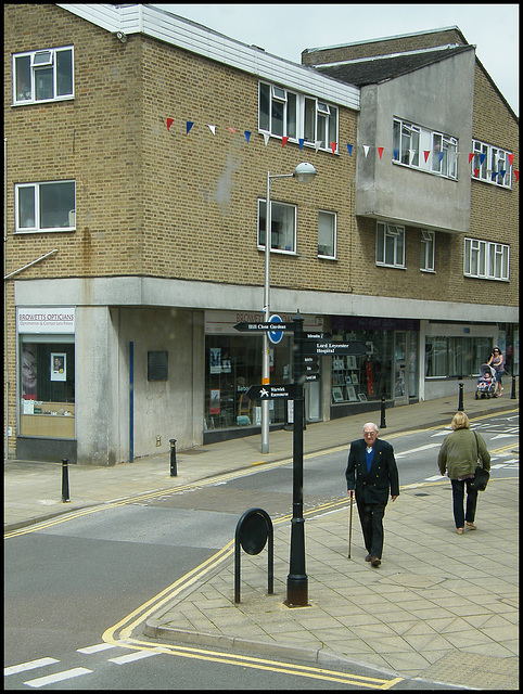
[[[60,83],[58,74],[58,61],[60,53],[71,53],[71,75],[67,75],[71,79],[71,91],[59,94]],[[25,77],[28,78],[29,83],[20,85],[18,80],[23,78],[22,61],[25,63]],[[13,105],[14,106],[27,106],[29,104],[40,104],[50,101],[65,101],[75,98],[75,56],[73,46],[63,46],[60,48],[39,49],[37,51],[26,51],[25,53],[13,54]],[[28,67],[28,69],[27,69]],[[52,70],[52,95],[39,99],[37,82],[38,73],[40,70]]]

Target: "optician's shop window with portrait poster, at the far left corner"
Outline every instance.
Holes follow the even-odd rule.
[[[20,346],[20,434],[75,438],[75,345],[24,336]],[[55,340],[55,342],[54,342]]]

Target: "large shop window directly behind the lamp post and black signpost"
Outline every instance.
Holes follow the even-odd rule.
[[[291,340],[270,345],[271,383],[290,383]],[[205,344],[205,429],[260,426],[262,403],[247,390],[262,383],[262,338],[207,335]],[[270,424],[285,424],[284,400],[269,401]]]

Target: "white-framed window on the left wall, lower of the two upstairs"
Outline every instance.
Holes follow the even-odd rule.
[[[15,185],[15,230],[17,232],[73,231],[74,229],[76,229],[75,181]]]

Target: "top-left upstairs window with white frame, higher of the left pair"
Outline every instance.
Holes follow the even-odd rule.
[[[13,104],[74,97],[73,47],[13,55]]]

